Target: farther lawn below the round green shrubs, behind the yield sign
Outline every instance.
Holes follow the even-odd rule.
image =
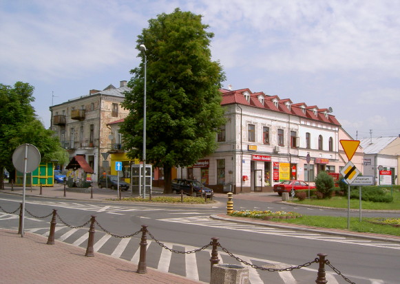
[[[289,201],[295,204],[307,204],[313,206],[324,206],[334,208],[347,208],[347,197],[334,196],[330,199],[304,199],[303,201],[293,200]],[[359,209],[359,199],[350,199],[350,208]],[[361,209],[365,210],[400,210],[400,191],[398,188],[393,188],[393,201],[390,203],[385,202],[371,202],[361,201]]]

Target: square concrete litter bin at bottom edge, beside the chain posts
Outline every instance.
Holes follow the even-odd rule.
[[[236,264],[216,264],[210,284],[249,284],[249,268]]]

